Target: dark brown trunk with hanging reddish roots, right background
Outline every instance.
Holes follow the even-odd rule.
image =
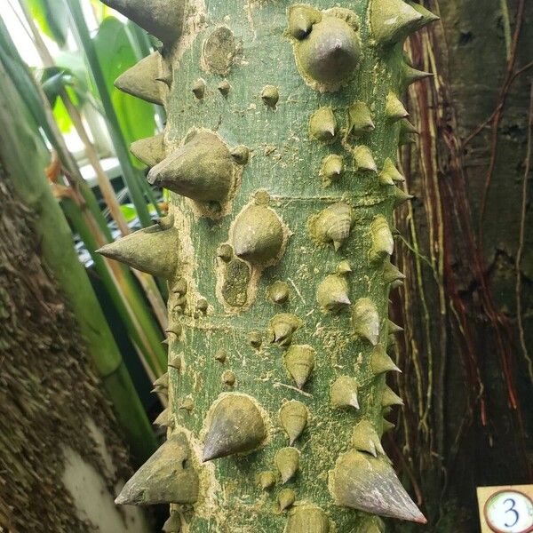
[[[533,4],[425,5],[441,21],[409,49],[435,77],[409,91],[421,134],[402,169],[416,199],[395,213],[407,239],[393,308],[408,332],[398,379],[410,410],[387,444],[406,458],[434,530],[466,532],[479,528],[476,486],[532,479]]]

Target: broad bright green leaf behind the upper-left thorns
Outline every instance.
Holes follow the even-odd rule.
[[[107,17],[93,42],[126,143],[130,145],[134,140],[154,135],[154,106],[119,91],[113,84],[118,76],[138,62],[127,28],[114,17]],[[137,168],[143,168],[134,157],[131,162]]]

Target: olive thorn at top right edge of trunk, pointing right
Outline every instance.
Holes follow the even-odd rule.
[[[433,20],[403,0],[372,0],[370,6],[370,26],[381,46],[399,43]]]

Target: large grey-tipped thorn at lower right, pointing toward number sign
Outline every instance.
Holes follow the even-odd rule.
[[[376,458],[360,451],[342,454],[330,471],[330,492],[338,505],[426,523],[385,457]]]

